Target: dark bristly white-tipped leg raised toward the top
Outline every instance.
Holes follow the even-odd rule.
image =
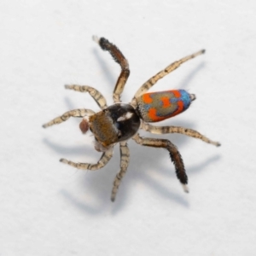
[[[123,92],[125,83],[130,75],[129,63],[121,51],[114,44],[110,43],[108,39],[97,38],[94,36],[93,40],[96,41],[97,44],[100,44],[103,50],[108,50],[110,55],[112,55],[113,60],[119,63],[121,67],[119,79],[117,80],[113,90],[113,102],[120,102],[121,93]]]

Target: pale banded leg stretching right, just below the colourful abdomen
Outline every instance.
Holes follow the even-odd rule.
[[[180,133],[189,137],[195,137],[200,139],[201,141],[205,143],[212,144],[214,146],[219,147],[221,144],[218,142],[213,142],[212,140],[208,139],[207,137],[201,135],[198,131],[184,128],[181,126],[154,126],[149,125],[148,123],[142,123],[141,128],[144,131],[149,131],[154,134],[166,134],[166,133]]]

